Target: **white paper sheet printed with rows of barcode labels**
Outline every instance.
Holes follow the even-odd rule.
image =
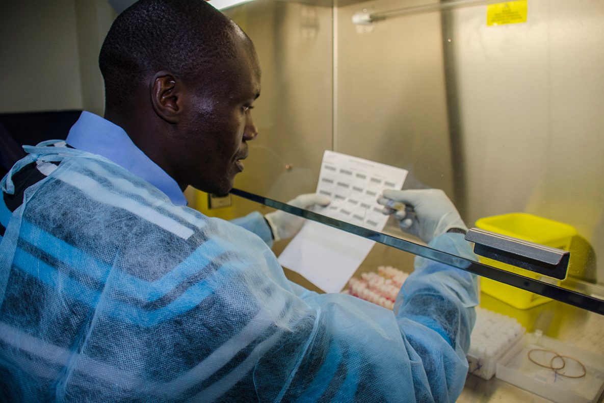
[[[381,231],[388,221],[377,198],[384,189],[401,189],[408,171],[326,151],[316,192],[332,199],[317,213]],[[300,273],[326,292],[339,292],[374,242],[308,221],[279,256],[282,266]]]

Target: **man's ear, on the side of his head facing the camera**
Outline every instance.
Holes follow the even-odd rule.
[[[169,71],[159,71],[150,83],[151,105],[155,113],[168,123],[178,123],[184,105],[184,86]]]

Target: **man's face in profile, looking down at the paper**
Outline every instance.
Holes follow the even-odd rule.
[[[260,95],[260,68],[251,44],[242,44],[238,53],[202,88],[190,90],[178,141],[185,184],[219,195],[233,188],[248,156],[247,141],[258,135],[251,109]]]

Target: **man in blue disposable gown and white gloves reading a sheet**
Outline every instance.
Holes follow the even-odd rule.
[[[187,185],[228,192],[257,136],[260,69],[239,27],[204,1],[143,0],[112,25],[100,67],[105,118],[83,114],[66,145],[27,147],[2,180],[0,393],[457,398],[474,276],[418,258],[394,315],[286,280],[259,214],[247,227],[260,237],[183,205]],[[449,232],[464,225],[443,193],[385,196],[416,206],[411,227],[431,247],[473,258]],[[275,214],[273,236],[290,235],[295,225]]]

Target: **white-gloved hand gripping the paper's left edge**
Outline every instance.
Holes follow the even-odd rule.
[[[309,210],[315,205],[324,207],[330,202],[331,200],[327,196],[318,195],[317,193],[308,193],[288,201],[288,204]],[[271,227],[272,236],[275,241],[291,238],[297,234],[298,231],[300,231],[300,228],[302,228],[302,225],[304,225],[303,218],[281,210],[266,214],[265,219],[268,222],[269,227]]]

